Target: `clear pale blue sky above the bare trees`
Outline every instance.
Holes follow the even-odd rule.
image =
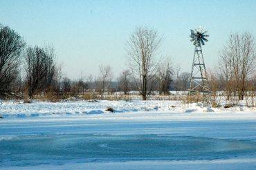
[[[30,46],[53,44],[63,72],[73,79],[81,72],[97,75],[99,64],[111,64],[117,76],[125,67],[127,38],[138,26],[158,30],[164,36],[161,54],[190,71],[190,28],[209,30],[203,53],[213,67],[230,32],[256,36],[256,1],[1,0],[0,22]]]

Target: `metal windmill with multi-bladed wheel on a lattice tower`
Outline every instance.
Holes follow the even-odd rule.
[[[204,30],[201,26],[191,30],[190,41],[194,45],[194,58],[190,75],[190,89],[188,91],[189,95],[203,93],[204,101],[210,102],[208,99],[210,97],[210,88],[201,47],[208,41],[206,37],[209,37],[207,30]]]

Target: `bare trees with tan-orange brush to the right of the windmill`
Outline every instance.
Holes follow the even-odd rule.
[[[210,74],[214,93],[223,91],[226,100],[244,100],[255,95],[255,40],[250,32],[230,35],[219,55],[217,71]]]

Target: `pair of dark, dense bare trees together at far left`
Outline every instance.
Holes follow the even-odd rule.
[[[53,47],[25,47],[24,39],[15,30],[0,25],[1,98],[15,95],[15,91],[24,91],[33,98],[39,92],[60,88]]]

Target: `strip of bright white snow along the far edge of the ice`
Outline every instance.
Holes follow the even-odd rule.
[[[64,115],[97,115],[110,113],[106,108],[111,107],[114,114],[129,112],[145,113],[222,113],[237,111],[253,111],[244,105],[232,108],[210,108],[203,107],[201,104],[183,104],[181,101],[172,100],[149,100],[149,101],[66,101],[66,102],[38,102],[31,104],[7,101],[0,105],[0,116],[10,117],[38,117],[38,116],[64,116]]]

